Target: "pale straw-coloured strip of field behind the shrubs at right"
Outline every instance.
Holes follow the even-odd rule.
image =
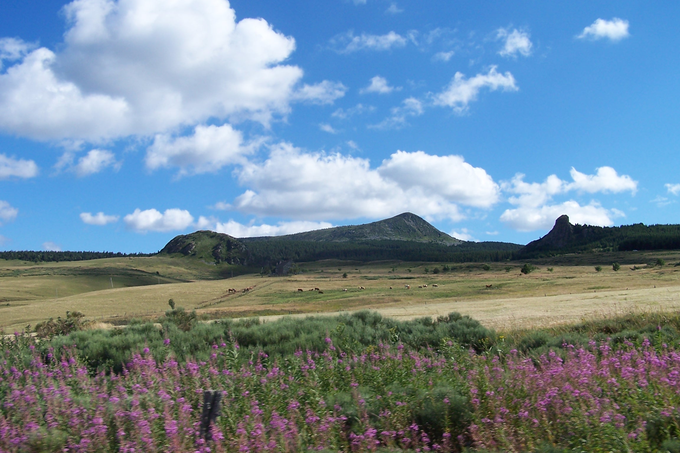
[[[414,319],[440,316],[450,312],[468,314],[495,329],[547,327],[574,323],[581,319],[604,318],[630,312],[680,310],[680,286],[632,289],[630,291],[592,291],[589,293],[553,295],[547,297],[517,297],[513,299],[443,302],[438,304],[378,308],[383,316]],[[350,313],[350,312],[347,312]],[[337,312],[322,313],[334,315]],[[294,314],[293,317],[309,316]],[[315,315],[319,316],[319,315]],[[282,316],[262,316],[273,321]]]

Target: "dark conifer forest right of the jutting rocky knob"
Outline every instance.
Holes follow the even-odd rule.
[[[549,244],[517,251],[515,258],[546,257],[584,251],[632,251],[680,249],[680,225],[622,225],[598,227],[573,225],[570,243],[560,249]]]

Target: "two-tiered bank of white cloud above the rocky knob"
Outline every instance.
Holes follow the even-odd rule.
[[[550,175],[543,183],[526,183],[522,174],[515,175],[511,181],[504,181],[501,187],[512,194],[508,201],[517,207],[507,209],[500,220],[519,231],[547,230],[562,214],[568,215],[572,223],[610,226],[613,225],[613,219],[622,217],[624,213],[617,209],[605,209],[595,201],[581,206],[575,200],[553,204],[552,199],[571,191],[590,194],[630,191],[635,194],[637,190],[637,181],[628,175],[619,176],[609,166],[597,168],[595,175],[585,175],[575,168],[571,168],[570,174],[573,179],[571,183],[562,181],[556,175]]]

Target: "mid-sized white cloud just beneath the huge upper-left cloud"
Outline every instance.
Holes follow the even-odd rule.
[[[196,126],[187,137],[157,134],[154,143],[146,150],[146,166],[152,170],[177,166],[180,173],[215,172],[228,164],[243,160],[258,143],[245,145],[243,134],[229,124],[222,126]]]

